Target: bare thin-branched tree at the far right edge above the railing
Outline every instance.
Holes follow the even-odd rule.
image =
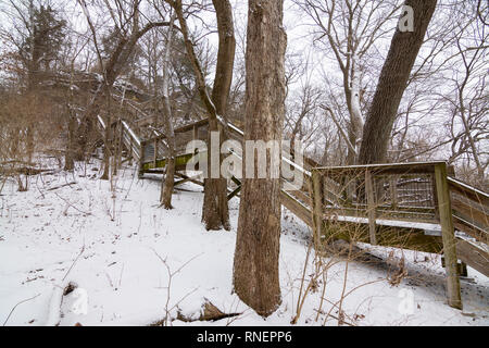
[[[452,90],[441,96],[451,115],[448,122],[452,139],[449,162],[456,163],[461,160],[464,172],[469,172],[473,163],[476,174],[468,175],[474,177],[469,181],[480,187],[487,184],[486,172],[489,166],[489,149],[484,145],[489,137],[487,29],[487,25],[479,25],[475,16],[467,30],[455,36],[457,59],[448,79]]]

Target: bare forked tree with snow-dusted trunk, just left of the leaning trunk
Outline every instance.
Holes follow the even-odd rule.
[[[387,25],[399,5],[397,1],[354,1],[354,0],[296,0],[296,3],[313,21],[315,41],[326,40],[327,49],[333,52],[342,79],[343,98],[349,120],[348,141],[352,145],[348,151],[348,163],[356,162],[363,132],[364,107],[362,82],[365,73],[373,70],[373,52],[377,44],[391,30]],[[375,69],[374,69],[375,71]],[[330,72],[327,74],[330,79]],[[334,116],[335,114],[330,114]],[[336,122],[339,127],[340,123]]]

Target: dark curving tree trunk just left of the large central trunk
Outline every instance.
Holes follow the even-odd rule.
[[[215,71],[212,101],[218,115],[226,113],[227,98],[233,80],[233,66],[235,62],[235,32],[233,24],[233,9],[228,0],[213,0],[217,17],[220,46],[217,52],[217,66]],[[220,132],[221,144],[225,140],[223,127],[217,120],[209,122],[208,149],[211,149],[211,132]],[[220,144],[220,148],[221,148]],[[208,161],[211,163],[211,151]],[[222,162],[222,158],[220,163]],[[209,229],[229,229],[229,210],[227,207],[227,181],[224,177],[204,179],[204,200],[202,206],[202,222]]]

